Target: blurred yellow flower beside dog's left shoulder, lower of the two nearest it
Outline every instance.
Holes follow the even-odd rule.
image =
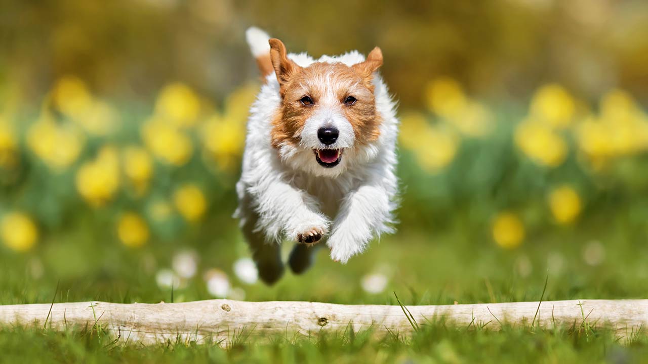
[[[245,144],[245,122],[214,115],[203,125],[202,136],[209,157],[222,169],[231,170]]]

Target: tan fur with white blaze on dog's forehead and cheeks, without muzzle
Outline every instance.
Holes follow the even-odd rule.
[[[277,52],[276,59],[277,62],[281,60],[281,52]],[[366,62],[353,67],[323,62],[297,68],[294,63],[288,67],[275,65],[275,71],[286,70],[289,74],[277,76],[282,103],[279,113],[272,120],[272,145],[277,148],[283,143],[299,144],[306,121],[319,108],[334,109],[349,120],[356,142],[367,144],[376,141],[380,135],[381,120],[376,113],[371,75],[380,64],[382,55],[380,63],[368,57]],[[300,102],[305,96],[313,100],[312,106],[304,106]],[[357,99],[355,104],[344,104],[349,96]]]

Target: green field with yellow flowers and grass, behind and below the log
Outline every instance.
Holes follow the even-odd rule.
[[[612,90],[588,106],[549,84],[527,102],[494,104],[450,78],[431,80],[426,109],[402,110],[398,233],[345,266],[321,249],[305,275],[286,271],[267,287],[230,217],[257,87],[214,105],[170,84],[147,107],[107,102],[68,77],[43,108],[8,108],[0,304],[538,301],[546,281],[545,301],[645,298],[648,118],[628,93]],[[90,363],[625,363],[648,352],[643,328],[617,339],[586,317],[501,332],[439,319],[413,337],[249,330],[232,339],[140,347],[113,343],[100,327],[5,327],[0,348],[7,362]]]

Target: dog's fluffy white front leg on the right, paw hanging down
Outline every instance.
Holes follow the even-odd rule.
[[[391,209],[391,194],[380,185],[364,185],[350,192],[327,240],[330,257],[344,264],[361,253],[373,236],[391,232]]]

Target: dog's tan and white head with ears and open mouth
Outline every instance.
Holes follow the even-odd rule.
[[[372,84],[372,74],[382,65],[380,49],[353,66],[317,62],[299,67],[281,41],[270,40],[270,47],[281,93],[272,146],[295,168],[338,176],[380,134]]]

